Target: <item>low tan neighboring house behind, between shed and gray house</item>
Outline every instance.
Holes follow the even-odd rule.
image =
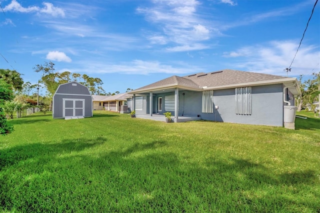
[[[126,92],[109,96],[92,95],[93,110],[125,112],[128,110],[126,97]]]

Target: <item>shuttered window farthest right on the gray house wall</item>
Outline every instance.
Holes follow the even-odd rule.
[[[252,113],[252,93],[251,86],[235,88],[235,113]]]

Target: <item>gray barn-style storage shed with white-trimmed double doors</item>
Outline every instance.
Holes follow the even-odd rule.
[[[76,82],[63,83],[53,95],[53,118],[92,116],[92,96],[88,87]]]

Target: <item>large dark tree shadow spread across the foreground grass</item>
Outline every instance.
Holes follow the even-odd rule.
[[[99,136],[4,148],[2,209],[274,212],[316,211],[320,204],[316,199],[301,200],[311,193],[296,192],[314,187],[318,177],[313,170],[277,174],[246,159],[218,156],[200,163],[167,151],[167,145],[153,140],[113,149],[106,137]],[[94,153],[97,147],[104,151]]]

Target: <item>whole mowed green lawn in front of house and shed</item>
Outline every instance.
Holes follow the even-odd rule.
[[[296,130],[107,111],[10,122],[0,211],[320,211],[319,118],[296,118]]]

